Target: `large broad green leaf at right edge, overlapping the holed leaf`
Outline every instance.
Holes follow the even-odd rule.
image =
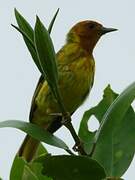
[[[108,108],[95,136],[93,158],[109,177],[121,177],[129,167],[135,151],[135,83],[126,88]]]

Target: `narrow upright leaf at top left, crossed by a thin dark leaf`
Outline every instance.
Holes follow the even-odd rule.
[[[28,47],[30,54],[37,65],[39,71],[42,73],[42,69],[39,64],[39,59],[37,57],[37,53],[35,50],[35,47],[33,47],[34,44],[34,31],[30,24],[26,21],[26,19],[15,9],[15,17],[18,23],[19,28],[15,27],[24,38],[24,41],[26,43],[26,46]],[[33,44],[31,42],[33,42]]]

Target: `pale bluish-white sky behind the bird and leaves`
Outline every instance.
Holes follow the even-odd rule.
[[[64,44],[68,30],[78,21],[97,20],[108,27],[118,28],[118,32],[102,37],[94,57],[96,77],[90,98],[73,116],[75,127],[79,126],[79,116],[84,110],[96,105],[102,91],[111,84],[121,92],[135,79],[135,2],[134,0],[4,0],[0,1],[0,121],[7,119],[28,120],[30,102],[39,77],[31,56],[21,35],[10,24],[15,22],[14,7],[34,25],[38,14],[47,26],[56,9],[60,8],[52,33],[56,51]],[[73,146],[67,130],[56,133]],[[0,129],[0,176],[8,180],[14,156],[25,134],[16,129]],[[62,150],[47,146],[52,153]],[[132,162],[125,180],[133,180],[135,161]]]

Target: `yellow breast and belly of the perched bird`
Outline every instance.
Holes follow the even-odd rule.
[[[60,89],[69,111],[76,110],[85,100],[93,84],[95,63],[93,57],[80,57],[65,65],[61,72]]]

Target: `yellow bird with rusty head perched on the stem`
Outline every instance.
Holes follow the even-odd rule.
[[[69,30],[65,45],[56,54],[58,85],[66,110],[71,115],[83,104],[92,89],[95,75],[93,50],[98,40],[116,30],[92,20],[78,22]],[[54,133],[62,126],[60,112],[47,81],[41,75],[31,103],[30,122]],[[39,141],[27,135],[18,155],[30,162],[38,145]]]

